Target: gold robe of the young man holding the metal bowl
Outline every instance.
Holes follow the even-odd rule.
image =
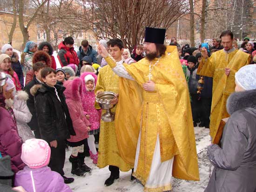
[[[118,84],[119,77],[111,70],[110,66],[104,66],[98,75],[95,93],[99,90],[119,93]],[[116,106],[111,109],[111,112],[115,112],[115,109]],[[105,112],[105,110],[102,110],[102,114]],[[97,166],[103,168],[108,165],[117,166],[123,172],[133,168],[132,165],[126,163],[120,156],[117,145],[117,135],[115,134],[115,121],[104,122],[101,120]]]

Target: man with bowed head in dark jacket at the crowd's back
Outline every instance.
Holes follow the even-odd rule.
[[[93,49],[92,46],[89,45],[88,40],[82,40],[77,55],[80,61],[83,59],[84,56],[89,56],[93,63],[97,63],[97,52]]]

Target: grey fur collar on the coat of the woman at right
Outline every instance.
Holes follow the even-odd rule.
[[[235,92],[229,96],[229,99],[227,100],[227,111],[229,115],[245,108],[256,109],[256,89]]]

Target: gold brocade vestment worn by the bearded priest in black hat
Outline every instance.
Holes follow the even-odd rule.
[[[171,54],[166,53],[162,56],[159,63],[152,69],[152,80],[155,82],[156,91],[141,91],[143,103],[139,112],[133,109],[132,104],[128,105],[129,102],[126,102],[126,110],[129,110],[129,113],[140,115],[141,148],[138,167],[134,174],[142,184],[145,184],[148,179],[157,134],[160,139],[162,162],[175,156],[173,176],[180,179],[199,180],[189,90],[177,49],[172,50]],[[115,67],[113,60],[109,57],[105,59],[108,65]],[[157,60],[153,60],[152,65]],[[138,85],[142,86],[148,81],[149,61],[142,59],[126,66],[126,70]],[[131,87],[124,82],[123,78],[120,81],[122,81],[119,84],[120,91]],[[131,95],[123,94],[119,97],[120,99],[122,97],[122,102],[131,99],[128,98]],[[129,119],[129,121],[135,121],[135,119]]]

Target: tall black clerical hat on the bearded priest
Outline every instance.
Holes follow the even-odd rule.
[[[166,29],[146,27],[144,42],[164,44],[165,32]]]

